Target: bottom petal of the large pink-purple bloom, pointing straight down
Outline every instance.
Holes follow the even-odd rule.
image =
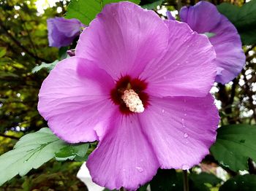
[[[136,190],[150,181],[159,168],[138,115],[126,116],[117,111],[108,128],[86,163],[92,180],[110,190]]]

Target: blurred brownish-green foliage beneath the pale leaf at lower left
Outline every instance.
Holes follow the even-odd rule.
[[[82,163],[65,162],[56,163],[55,160],[42,165],[37,170],[7,182],[0,190],[6,191],[29,191],[29,190],[87,190],[83,182],[80,182],[76,174]]]

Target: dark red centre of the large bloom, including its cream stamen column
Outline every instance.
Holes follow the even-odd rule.
[[[123,114],[141,113],[148,106],[147,84],[140,79],[132,79],[124,76],[118,79],[116,87],[111,90],[111,100],[119,105],[120,112]]]

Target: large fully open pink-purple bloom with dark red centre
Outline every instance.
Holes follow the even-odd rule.
[[[61,139],[99,141],[86,163],[94,182],[135,190],[158,168],[191,168],[208,154],[215,58],[186,23],[108,4],[42,83],[38,109]]]

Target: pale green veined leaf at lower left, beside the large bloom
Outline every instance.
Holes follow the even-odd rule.
[[[21,137],[14,149],[0,156],[0,185],[17,174],[24,176],[32,168],[39,168],[66,146],[49,128]]]

